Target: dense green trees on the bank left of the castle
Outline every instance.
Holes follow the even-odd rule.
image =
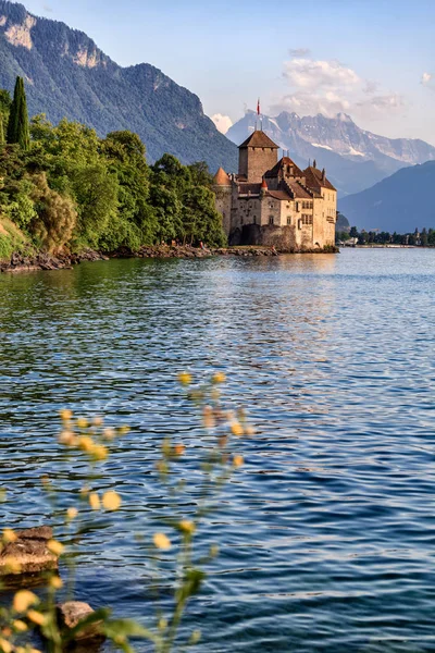
[[[203,162],[164,155],[152,165],[132,132],[99,138],[86,125],[27,118],[23,81],[0,90],[0,259],[49,252],[137,249],[162,241],[225,244]]]

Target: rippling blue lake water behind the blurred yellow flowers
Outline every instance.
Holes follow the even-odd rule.
[[[417,249],[1,275],[2,523],[55,521],[42,473],[83,482],[60,408],[130,424],[96,481],[123,508],[86,535],[77,589],[147,623],[151,560],[130,533],[167,503],[160,443],[207,444],[175,378],[222,370],[257,434],[198,535],[221,546],[185,623],[198,650],[435,651],[434,288],[435,251]]]

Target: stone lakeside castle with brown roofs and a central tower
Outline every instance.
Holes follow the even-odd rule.
[[[269,245],[286,251],[335,244],[337,192],[315,161],[300,170],[256,130],[239,146],[238,174],[214,176],[216,209],[229,245]]]

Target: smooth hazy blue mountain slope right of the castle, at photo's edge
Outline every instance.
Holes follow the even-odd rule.
[[[373,188],[339,200],[351,225],[398,234],[435,227],[435,161],[403,168]]]

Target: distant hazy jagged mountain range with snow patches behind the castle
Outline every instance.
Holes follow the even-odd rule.
[[[226,136],[235,144],[243,143],[257,120],[257,114],[248,111]],[[427,143],[376,136],[358,127],[345,113],[300,118],[283,111],[276,118],[263,116],[263,130],[290,151],[299,167],[316,159],[341,197],[369,188],[400,168],[435,160],[435,147]]]

